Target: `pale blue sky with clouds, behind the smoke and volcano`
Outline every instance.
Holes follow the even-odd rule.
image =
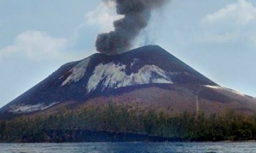
[[[0,107],[64,63],[96,53],[98,33],[119,18],[101,0],[0,0]],[[152,12],[133,47],[147,44],[256,97],[256,0],[172,0]]]

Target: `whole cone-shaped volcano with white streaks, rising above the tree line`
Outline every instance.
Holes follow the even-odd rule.
[[[254,97],[219,86],[159,46],[143,46],[66,63],[0,112],[10,118],[108,101],[172,113],[253,113],[256,108]]]

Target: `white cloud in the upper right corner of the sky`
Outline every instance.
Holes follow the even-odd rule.
[[[246,0],[238,0],[237,3],[226,5],[213,14],[208,14],[203,18],[203,22],[212,24],[231,20],[233,23],[245,25],[254,19],[256,19],[256,7]]]

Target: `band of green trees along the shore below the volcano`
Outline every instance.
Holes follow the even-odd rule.
[[[229,111],[210,116],[187,112],[173,116],[115,103],[87,105],[75,111],[65,108],[47,117],[0,121],[0,142],[48,142],[54,135],[75,137],[70,131],[77,129],[150,134],[184,141],[245,141],[256,139],[256,115]],[[58,130],[59,134],[49,134],[52,130]]]

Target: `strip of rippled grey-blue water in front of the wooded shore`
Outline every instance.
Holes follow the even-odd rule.
[[[0,143],[0,152],[256,152],[256,143]]]

